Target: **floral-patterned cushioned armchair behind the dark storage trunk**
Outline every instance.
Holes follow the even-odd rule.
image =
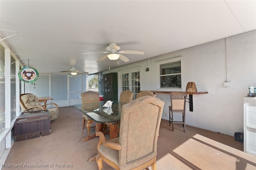
[[[46,108],[47,105],[53,105],[55,107]],[[31,93],[20,94],[20,107],[22,111],[36,111],[47,109],[50,113],[50,119],[53,121],[59,116],[59,107],[55,103],[46,104],[45,107],[38,101],[36,95]]]

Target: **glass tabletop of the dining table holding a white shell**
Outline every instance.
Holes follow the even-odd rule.
[[[103,107],[105,103],[75,104],[74,107],[97,123],[120,121],[122,106],[126,103],[113,101],[112,107]]]

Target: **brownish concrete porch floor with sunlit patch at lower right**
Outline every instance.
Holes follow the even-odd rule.
[[[51,122],[51,134],[15,142],[2,170],[97,170],[87,160],[97,152],[98,137],[84,143],[82,113],[75,107],[60,107],[58,119]],[[256,170],[256,156],[243,152],[243,143],[234,137],[162,120],[158,137],[158,170]],[[91,129],[91,133],[94,128]],[[109,135],[106,135],[109,138]],[[46,166],[28,167],[28,166]],[[113,168],[103,163],[104,170]]]

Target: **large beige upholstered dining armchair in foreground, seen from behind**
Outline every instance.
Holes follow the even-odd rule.
[[[102,132],[96,162],[102,169],[102,160],[116,170],[156,170],[156,148],[164,102],[152,96],[143,96],[122,106],[120,136],[106,141]]]

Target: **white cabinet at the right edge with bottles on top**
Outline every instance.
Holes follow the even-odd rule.
[[[256,97],[244,97],[244,152],[256,155]]]

